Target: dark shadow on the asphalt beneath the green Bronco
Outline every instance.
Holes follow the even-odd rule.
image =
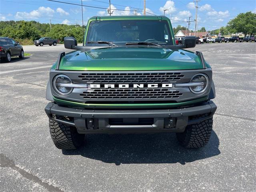
[[[106,163],[186,164],[220,154],[219,139],[214,131],[209,143],[200,149],[181,147],[173,133],[130,134],[130,135],[88,135],[87,144],[79,150],[62,150],[64,155],[81,155]]]

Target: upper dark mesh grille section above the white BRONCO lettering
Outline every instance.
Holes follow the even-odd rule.
[[[95,84],[169,83],[183,78],[181,73],[82,73],[78,78]]]

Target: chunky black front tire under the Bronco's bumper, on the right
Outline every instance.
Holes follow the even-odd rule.
[[[176,133],[180,145],[186,148],[205,146],[212,133],[212,118],[188,125],[183,133]]]

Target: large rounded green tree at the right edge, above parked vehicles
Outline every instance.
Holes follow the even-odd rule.
[[[256,33],[256,14],[252,12],[240,13],[228,22],[227,28],[230,32],[243,32],[247,34]]]

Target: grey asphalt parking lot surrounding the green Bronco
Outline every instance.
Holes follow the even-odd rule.
[[[44,107],[58,46],[24,46],[0,64],[0,191],[244,191],[256,188],[256,43],[201,44],[218,109],[210,142],[182,148],[175,134],[88,135],[80,150],[58,150]]]

